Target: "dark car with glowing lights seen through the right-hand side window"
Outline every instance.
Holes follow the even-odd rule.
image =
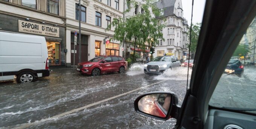
[[[236,74],[239,77],[242,77],[244,73],[244,65],[238,59],[230,59],[227,67],[225,69],[227,74]]]

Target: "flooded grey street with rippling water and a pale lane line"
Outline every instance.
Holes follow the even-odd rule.
[[[26,128],[31,129],[170,129],[175,125],[175,119],[165,122],[142,116],[134,111],[133,102],[143,93],[166,91],[174,92],[181,105],[186,94],[187,68],[151,75],[144,74],[143,64],[134,64],[125,74],[111,73],[92,77],[72,73],[72,69],[64,70],[64,73],[67,74],[55,74],[53,71],[52,76],[33,83],[1,82],[0,128],[19,128],[25,124]],[[248,74],[251,77],[254,72],[245,69],[242,79],[248,80],[243,83],[248,82],[248,85],[254,86],[255,91],[256,78],[246,78]],[[246,87],[242,89],[246,92]],[[255,99],[251,101],[255,103]],[[84,106],[87,107],[52,118]]]

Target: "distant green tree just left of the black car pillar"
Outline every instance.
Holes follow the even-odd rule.
[[[190,37],[190,29],[187,33],[189,40],[191,40],[190,52],[192,54],[195,54],[195,51],[197,50],[197,42],[200,34],[200,29],[201,29],[201,23],[192,24],[191,37]],[[187,48],[189,48],[189,43],[187,44]]]

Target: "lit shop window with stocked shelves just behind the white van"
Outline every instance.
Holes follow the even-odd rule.
[[[48,49],[49,65],[60,65],[60,44],[58,42],[46,42]]]

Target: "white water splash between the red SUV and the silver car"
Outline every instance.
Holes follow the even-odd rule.
[[[135,64],[131,65],[131,67],[126,72],[126,74],[128,76],[144,74],[144,64],[142,64],[142,63],[135,63]]]

